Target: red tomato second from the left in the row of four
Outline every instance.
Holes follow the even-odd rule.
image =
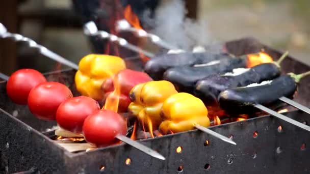
[[[44,82],[33,88],[28,97],[30,111],[43,120],[56,120],[58,106],[72,97],[68,87],[59,82]]]

